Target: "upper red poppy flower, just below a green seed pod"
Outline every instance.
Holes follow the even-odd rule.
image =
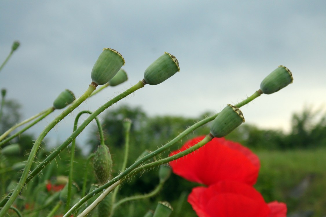
[[[197,144],[204,136],[189,140],[174,155]],[[211,185],[221,180],[233,180],[253,185],[259,172],[259,158],[248,148],[225,138],[213,138],[195,152],[177,160],[170,166],[175,174],[183,178]]]

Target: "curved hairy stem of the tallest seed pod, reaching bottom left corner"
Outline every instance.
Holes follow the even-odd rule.
[[[50,130],[59,123],[64,117],[66,117],[69,113],[71,113],[75,108],[77,108],[83,101],[87,99],[87,97],[96,89],[96,86],[92,83],[89,85],[86,92],[73,104],[71,104],[66,110],[64,110],[58,117],[56,117],[45,129],[42,131],[42,133],[39,135],[37,140],[35,141],[33,148],[28,156],[26,166],[24,168],[24,171],[22,172],[22,176],[15,187],[14,191],[12,192],[10,198],[8,199],[7,203],[4,205],[4,207],[0,210],[0,216],[4,216],[10,206],[13,204],[19,193],[21,192],[23,186],[26,183],[26,179],[28,177],[28,173],[30,172],[30,169],[32,167],[34,158],[36,156],[37,150],[39,146],[41,145],[41,142],[43,138],[50,132]]]

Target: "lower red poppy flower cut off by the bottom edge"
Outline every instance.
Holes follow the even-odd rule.
[[[237,181],[193,188],[188,202],[199,217],[286,217],[285,204],[267,204],[252,186]]]

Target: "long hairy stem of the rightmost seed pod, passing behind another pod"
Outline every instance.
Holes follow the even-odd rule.
[[[252,96],[248,97],[247,99],[245,99],[243,102],[238,103],[236,106],[242,107],[245,104],[251,102],[252,100],[254,100],[255,98],[257,98],[258,96],[260,96],[261,93],[260,91],[256,91]],[[135,169],[137,166],[141,165],[143,162],[151,159],[152,157],[156,156],[157,154],[169,149],[171,146],[173,146],[174,144],[176,144],[178,141],[180,141],[181,139],[183,139],[186,135],[188,135],[189,133],[191,133],[192,131],[194,131],[195,129],[199,128],[200,126],[209,123],[211,121],[213,121],[216,117],[217,117],[218,113],[215,115],[212,115],[210,117],[207,117],[195,124],[193,124],[192,126],[190,126],[189,128],[187,128],[185,131],[183,131],[182,133],[180,133],[177,137],[175,137],[174,139],[172,139],[170,142],[166,143],[164,146],[158,148],[157,150],[155,150],[154,152],[151,152],[147,155],[145,155],[144,157],[142,157],[141,159],[137,160],[134,164],[132,164],[131,166],[129,166],[124,172],[120,173],[118,176],[116,176],[115,178],[111,179],[109,182],[105,183],[104,185],[96,188],[94,191],[92,191],[90,194],[84,196],[80,201],[78,201],[65,215],[64,217],[67,217],[73,210],[77,210],[84,202],[86,202],[88,199],[90,199],[92,197],[93,194],[97,194],[99,192],[101,192],[103,189],[108,189],[109,186],[111,186],[113,183],[115,183],[118,180],[121,179],[125,179],[124,177],[126,177],[133,169]]]

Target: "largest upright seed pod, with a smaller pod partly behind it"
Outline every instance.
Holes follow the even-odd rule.
[[[93,66],[92,81],[97,85],[108,83],[123,65],[125,59],[118,51],[104,48]]]

